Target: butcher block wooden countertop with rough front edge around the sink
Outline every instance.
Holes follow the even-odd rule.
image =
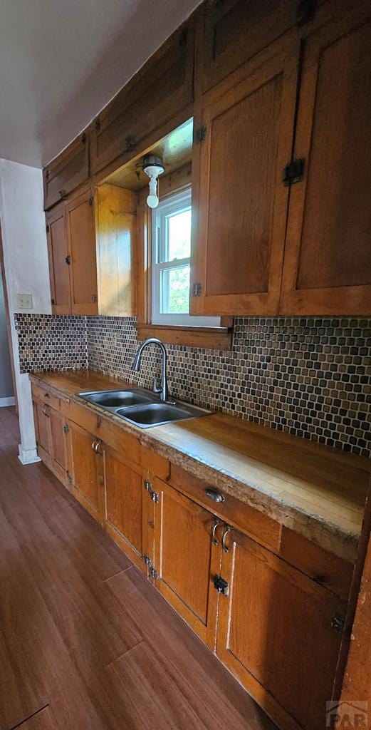
[[[140,429],[79,399],[80,391],[128,388],[91,370],[40,372],[31,380],[114,420],[173,464],[355,561],[371,460],[222,413]]]

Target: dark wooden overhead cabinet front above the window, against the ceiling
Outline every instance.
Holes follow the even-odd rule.
[[[92,125],[93,174],[125,164],[149,144],[152,134],[193,100],[194,19],[178,28],[160,50],[99,114]],[[192,108],[189,116],[192,116]],[[177,126],[176,123],[173,126]],[[171,131],[170,126],[168,131]],[[166,134],[166,132],[165,132]]]

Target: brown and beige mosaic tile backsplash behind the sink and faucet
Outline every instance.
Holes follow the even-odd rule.
[[[17,326],[23,372],[87,365],[145,387],[160,373],[156,347],[131,370],[134,318],[17,315]],[[176,398],[371,456],[371,320],[236,318],[231,351],[167,349]]]

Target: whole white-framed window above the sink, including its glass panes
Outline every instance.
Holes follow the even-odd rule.
[[[219,327],[190,315],[192,192],[175,193],[152,213],[152,324]]]

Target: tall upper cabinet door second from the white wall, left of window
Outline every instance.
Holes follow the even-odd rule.
[[[71,256],[72,314],[98,313],[94,201],[90,191],[66,205],[69,255]]]

